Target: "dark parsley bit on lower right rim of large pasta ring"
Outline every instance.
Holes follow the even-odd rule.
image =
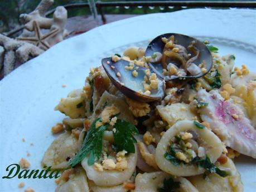
[[[211,163],[211,160],[208,155],[206,155],[204,158],[195,157],[192,160],[192,163],[196,163],[197,166],[201,166],[202,168],[206,169],[207,171],[210,171],[210,173],[216,173],[216,174],[222,176],[223,178],[225,178],[225,176],[230,175],[230,173],[228,173],[228,171],[220,170],[213,163]]]

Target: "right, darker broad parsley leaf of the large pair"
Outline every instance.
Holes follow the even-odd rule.
[[[114,124],[114,142],[117,151],[125,150],[127,152],[135,152],[134,143],[136,139],[133,134],[138,134],[136,126],[130,124],[127,121],[118,119]]]

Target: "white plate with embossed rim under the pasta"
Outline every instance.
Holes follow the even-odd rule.
[[[31,169],[41,169],[42,156],[55,138],[50,128],[64,117],[53,108],[69,91],[83,86],[89,67],[100,65],[103,57],[122,53],[127,46],[146,46],[149,39],[166,32],[210,40],[221,54],[233,53],[237,66],[245,63],[256,71],[256,12],[247,9],[147,14],[65,40],[0,81],[0,191],[23,191],[17,187],[21,181],[36,191],[54,191],[54,179],[2,176],[6,175],[7,166],[18,163],[21,157],[30,161]],[[62,88],[62,84],[67,87]],[[22,142],[22,138],[26,141]],[[244,156],[236,165],[245,191],[255,191],[255,160]]]

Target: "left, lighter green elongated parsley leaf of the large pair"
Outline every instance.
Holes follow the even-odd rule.
[[[96,159],[99,159],[100,155],[102,155],[102,147],[103,147],[103,133],[107,129],[108,125],[101,125],[96,128],[96,122],[101,119],[96,119],[93,124],[91,124],[89,131],[85,136],[85,140],[83,142],[83,146],[78,151],[78,153],[73,157],[73,159],[69,162],[71,167],[79,164],[87,155],[90,154],[88,159],[88,164],[93,165]]]

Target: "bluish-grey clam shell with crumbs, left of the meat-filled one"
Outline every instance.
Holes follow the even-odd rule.
[[[110,80],[125,96],[141,102],[161,100],[165,90],[163,78],[157,75],[158,88],[150,90],[150,95],[145,95],[143,81],[147,68],[134,65],[132,70],[127,70],[125,66],[129,66],[129,63],[123,59],[114,62],[111,57],[102,60],[102,66]],[[136,76],[132,73],[134,70],[137,72]],[[149,70],[151,74],[154,73],[151,69]]]

